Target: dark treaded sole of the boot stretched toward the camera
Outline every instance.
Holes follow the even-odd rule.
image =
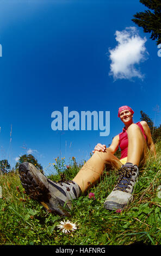
[[[19,174],[21,184],[25,192],[29,194],[30,198],[38,200],[49,212],[60,216],[70,216],[69,212],[63,209],[62,203],[59,202],[59,199],[51,196],[47,188],[47,179],[44,175],[31,168],[28,162],[20,164]],[[49,202],[50,199],[52,201],[52,205]]]

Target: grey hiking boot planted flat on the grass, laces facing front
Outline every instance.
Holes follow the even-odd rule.
[[[133,199],[132,192],[139,175],[138,166],[126,163],[118,172],[117,184],[103,205],[108,210],[123,209]]]

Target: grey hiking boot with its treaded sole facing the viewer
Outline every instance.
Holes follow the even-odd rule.
[[[49,180],[32,163],[24,162],[19,167],[22,186],[30,198],[38,200],[54,214],[70,216],[72,200],[80,196],[80,188],[73,181],[61,180],[56,182]]]

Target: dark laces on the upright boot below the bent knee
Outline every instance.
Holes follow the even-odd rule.
[[[119,178],[117,179],[117,185],[114,188],[115,190],[120,190],[126,193],[129,193],[126,189],[131,189],[132,182],[134,180],[132,179],[132,176],[135,175],[137,172],[137,168],[135,167],[121,167],[118,170]]]

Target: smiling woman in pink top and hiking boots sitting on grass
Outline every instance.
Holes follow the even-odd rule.
[[[104,202],[108,210],[122,209],[132,200],[132,192],[139,175],[139,166],[146,160],[147,148],[156,155],[150,128],[145,121],[133,123],[134,111],[128,106],[119,108],[118,117],[125,127],[113,138],[109,148],[98,143],[91,158],[79,170],[72,181],[47,179],[32,163],[19,167],[22,186],[29,196],[59,215],[69,215],[71,200],[86,192],[100,180],[103,170],[117,168],[119,178],[113,191]],[[121,157],[114,153],[120,146]]]

